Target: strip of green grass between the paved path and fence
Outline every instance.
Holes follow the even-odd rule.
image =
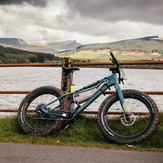
[[[160,115],[156,132],[149,139],[133,146],[109,142],[100,133],[96,118],[86,116],[80,116],[68,130],[62,129],[48,136],[27,135],[20,129],[16,117],[1,118],[0,133],[0,142],[163,151],[163,114]]]

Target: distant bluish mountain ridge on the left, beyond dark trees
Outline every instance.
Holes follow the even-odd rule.
[[[54,41],[28,42],[18,38],[0,38],[0,44],[28,51],[51,54],[56,54],[58,51],[62,50],[65,51],[76,49],[78,46],[81,46],[81,44],[77,43],[75,40],[68,40],[64,42],[54,42]]]

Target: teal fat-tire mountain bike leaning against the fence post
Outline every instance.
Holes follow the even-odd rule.
[[[98,127],[110,141],[118,144],[138,143],[148,138],[159,122],[156,103],[147,94],[134,89],[121,90],[124,72],[110,52],[115,65],[111,75],[74,91],[72,73],[75,67],[62,67],[70,73],[71,92],[64,94],[54,86],[42,86],[23,99],[18,110],[18,122],[28,134],[47,135],[62,128],[65,120],[73,120],[100,95],[114,86],[116,93],[106,97],[97,114]],[[71,109],[67,110],[68,103]]]

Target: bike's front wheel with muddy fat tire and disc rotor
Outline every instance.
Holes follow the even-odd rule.
[[[137,90],[122,91],[128,114],[123,114],[118,95],[108,96],[98,111],[101,133],[118,144],[138,143],[149,137],[159,122],[157,105]]]

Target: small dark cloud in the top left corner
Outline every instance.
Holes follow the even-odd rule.
[[[44,7],[47,4],[46,0],[0,0],[0,5],[21,5],[21,4],[30,4],[33,6]]]

